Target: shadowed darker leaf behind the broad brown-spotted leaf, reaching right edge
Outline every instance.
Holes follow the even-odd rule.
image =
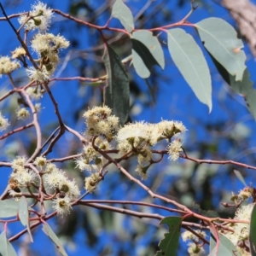
[[[254,119],[256,119],[256,90],[253,88],[253,82],[250,80],[250,73],[247,68],[243,73],[241,81],[236,81],[234,76],[231,76],[223,66],[221,66],[218,61],[216,61],[212,55],[210,55],[212,61],[218,69],[218,72],[223,77],[224,81],[230,85],[230,87],[244,97],[247,102],[247,108],[250,113],[253,114]]]

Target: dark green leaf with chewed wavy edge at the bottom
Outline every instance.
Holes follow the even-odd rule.
[[[157,251],[155,256],[176,256],[178,240],[180,236],[180,228],[183,218],[180,217],[166,217],[160,221],[160,224],[167,224],[169,232],[165,234],[165,238],[159,243],[160,251]]]

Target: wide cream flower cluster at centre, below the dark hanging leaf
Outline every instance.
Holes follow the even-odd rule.
[[[136,154],[138,161],[136,171],[145,179],[152,159],[150,148],[166,139],[171,142],[167,147],[170,159],[177,160],[183,151],[182,143],[177,136],[184,131],[186,131],[185,126],[177,121],[162,120],[158,124],[137,122],[125,125],[119,129],[116,137],[119,153]],[[172,137],[175,137],[175,140],[171,141]]]

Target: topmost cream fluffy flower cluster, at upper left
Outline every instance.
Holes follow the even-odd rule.
[[[50,19],[53,15],[52,9],[47,9],[46,4],[37,1],[35,4],[32,4],[32,9],[29,13],[32,19],[27,20],[27,15],[20,15],[18,21],[20,25],[23,25],[25,22],[26,30],[38,29],[40,32],[45,32],[50,24]]]

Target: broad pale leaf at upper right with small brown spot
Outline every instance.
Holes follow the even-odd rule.
[[[208,18],[195,24],[204,46],[211,55],[232,75],[236,81],[242,79],[246,69],[243,43],[236,30],[218,18]]]

